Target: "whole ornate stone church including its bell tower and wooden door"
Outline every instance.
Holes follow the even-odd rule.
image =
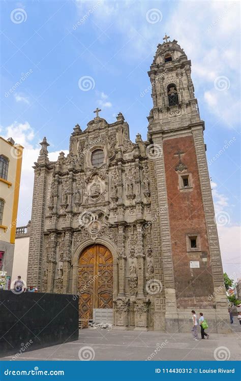
[[[118,329],[187,330],[191,309],[228,331],[204,122],[191,61],[159,44],[148,72],[147,140],[129,137],[122,113],[96,116],[70,136],[69,154],[37,163],[27,283],[79,295],[80,318],[113,311]]]

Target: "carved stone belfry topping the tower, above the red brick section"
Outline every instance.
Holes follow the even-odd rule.
[[[160,130],[178,129],[200,121],[197,99],[191,78],[191,60],[176,40],[159,44],[148,72],[152,84],[153,109],[148,120],[150,126]],[[158,120],[158,122],[157,122]],[[156,125],[157,123],[157,125]]]

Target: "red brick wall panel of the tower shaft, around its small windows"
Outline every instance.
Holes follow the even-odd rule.
[[[187,170],[182,172],[176,171],[179,158],[175,154],[178,150],[185,152],[181,162]],[[177,308],[193,307],[195,304],[208,308],[213,304],[208,296],[213,294],[214,286],[193,136],[165,139],[163,154]],[[180,189],[178,174],[186,173],[189,174],[191,187]],[[190,251],[188,235],[197,235],[197,250],[200,251]],[[200,267],[190,268],[190,261],[198,261]]]

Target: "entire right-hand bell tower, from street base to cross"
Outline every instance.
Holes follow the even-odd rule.
[[[191,61],[164,37],[148,72],[153,108],[148,119],[155,275],[164,300],[155,305],[156,329],[182,332],[190,310],[202,311],[218,332],[228,331],[227,297],[201,120]],[[159,234],[157,232],[160,232]],[[159,259],[159,262],[158,262]],[[163,306],[165,304],[165,306]],[[157,322],[162,322],[158,327]]]

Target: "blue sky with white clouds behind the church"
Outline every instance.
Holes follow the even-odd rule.
[[[165,33],[192,61],[223,267],[240,277],[240,4],[233,1],[4,1],[0,134],[24,146],[17,226],[31,219],[34,171],[46,136],[50,160],[68,153],[96,107],[122,112],[146,140],[147,75]],[[17,85],[16,85],[17,84]]]

